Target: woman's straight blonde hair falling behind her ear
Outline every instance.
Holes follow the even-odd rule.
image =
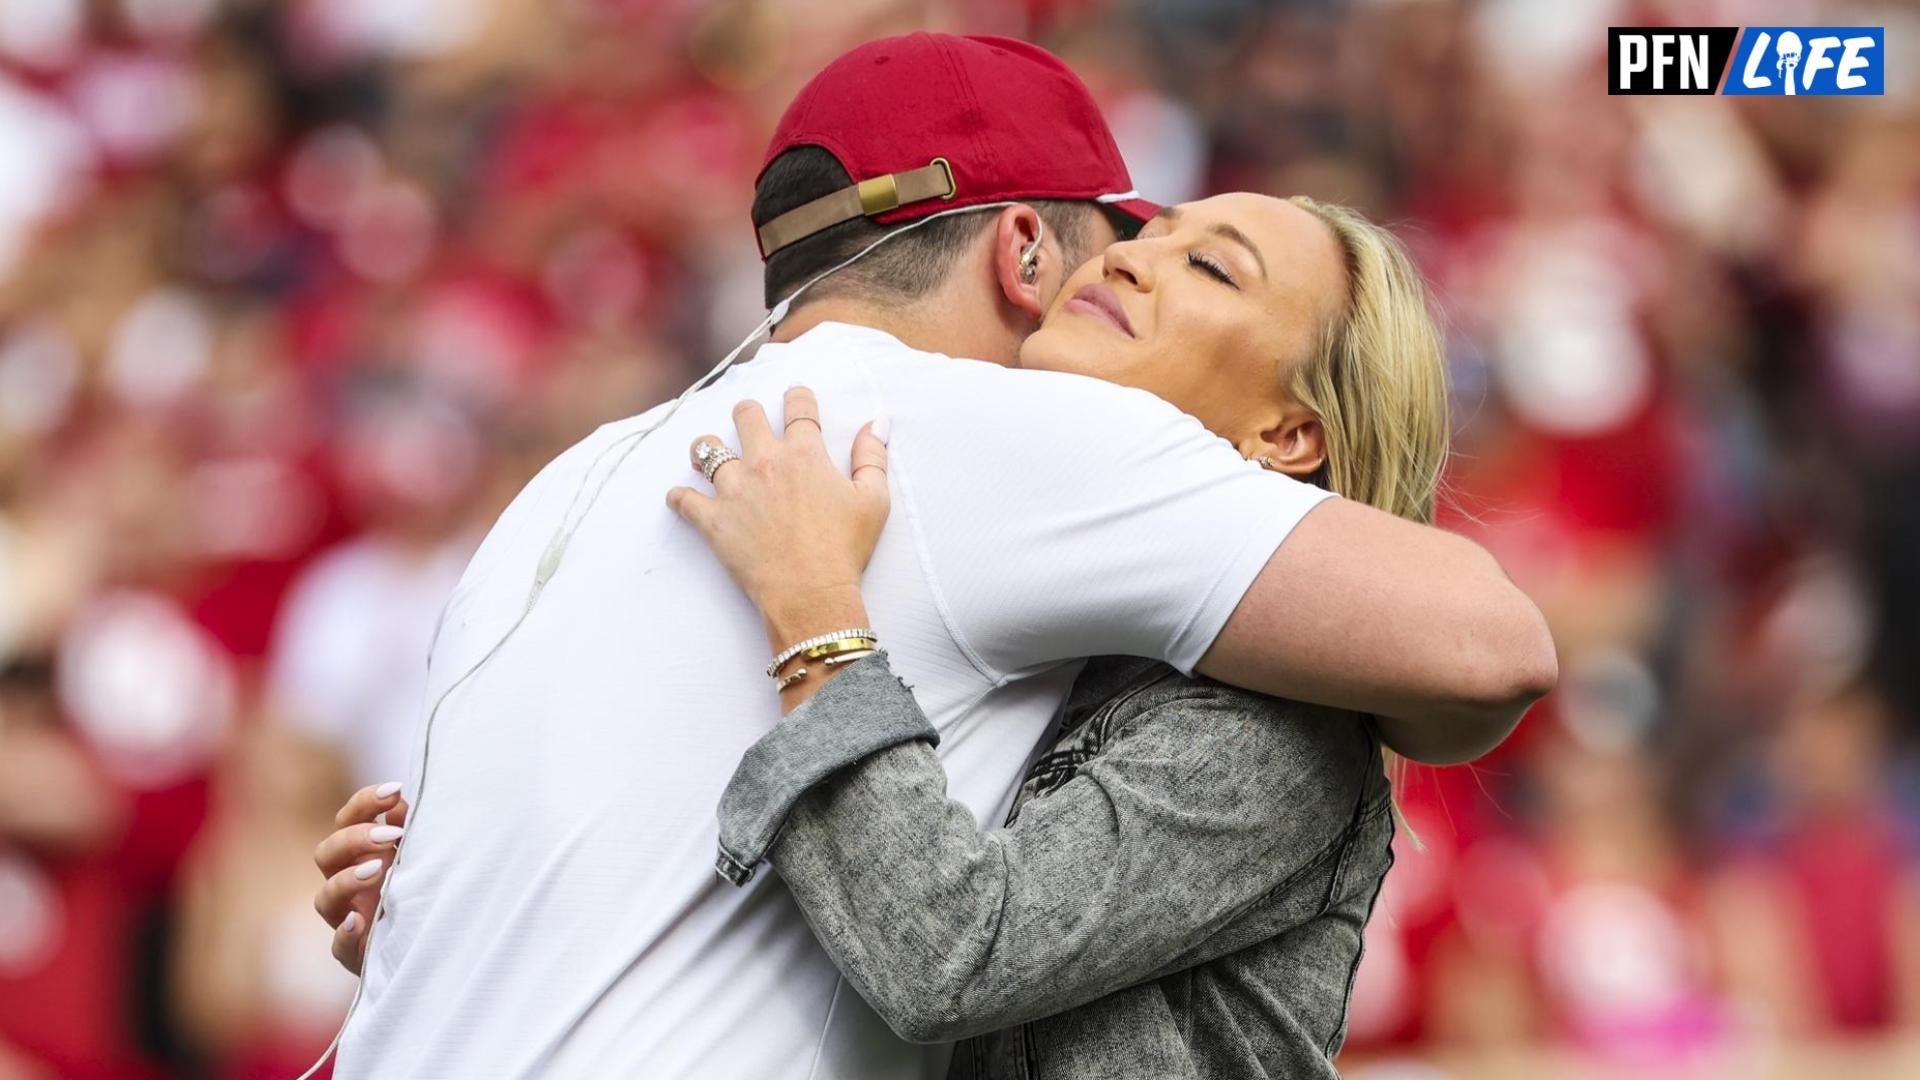
[[[1452,430],[1427,284],[1386,229],[1344,206],[1286,202],[1321,219],[1346,256],[1346,309],[1286,386],[1325,430],[1325,486],[1430,525]]]

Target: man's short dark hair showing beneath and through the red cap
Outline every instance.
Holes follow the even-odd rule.
[[[753,190],[755,229],[781,213],[804,206],[824,194],[852,184],[847,169],[818,146],[795,146],[766,167]],[[1091,215],[1100,213],[1092,202],[1023,200],[1041,213],[1054,234],[1068,265],[1077,267],[1092,252]],[[858,290],[883,304],[920,300],[952,273],[968,244],[993,223],[987,211],[954,213],[929,221],[904,236],[887,240],[858,263],[822,281],[806,292],[808,300]],[[841,221],[804,240],[795,240],[766,259],[766,306],[793,296],[793,290],[816,275],[851,259],[862,248],[906,223],[881,225],[870,217]]]

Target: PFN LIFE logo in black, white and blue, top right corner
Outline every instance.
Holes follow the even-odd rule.
[[[1607,27],[1607,92],[1885,94],[1884,54],[1882,27]]]

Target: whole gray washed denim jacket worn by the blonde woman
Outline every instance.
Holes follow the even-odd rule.
[[[1392,863],[1371,724],[1089,661],[993,832],[935,744],[854,663],[741,761],[720,872],[770,859],[900,1038],[966,1040],[952,1078],[1336,1076]]]

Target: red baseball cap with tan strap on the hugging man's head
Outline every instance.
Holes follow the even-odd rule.
[[[883,225],[958,206],[1087,200],[1135,221],[1140,198],[1100,106],[1058,56],[1023,40],[918,33],[879,38],[801,88],[760,171],[820,146],[854,186],[758,229],[760,258],[852,217]]]

